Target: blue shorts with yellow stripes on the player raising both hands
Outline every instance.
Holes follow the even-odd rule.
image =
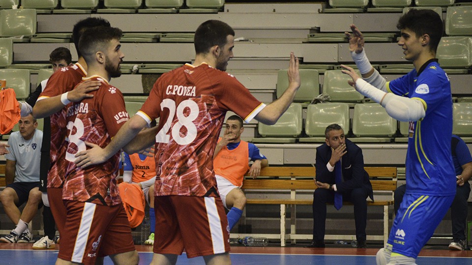
[[[405,194],[388,237],[392,252],[416,259],[453,200],[454,195]]]

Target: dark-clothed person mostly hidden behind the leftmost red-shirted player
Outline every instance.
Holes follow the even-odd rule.
[[[71,66],[72,65],[72,55],[70,54],[69,49],[64,47],[56,48],[54,51],[49,54],[49,62],[51,62],[53,71],[57,72],[63,67]],[[31,112],[32,106],[36,103],[39,94],[44,90],[46,87],[46,83],[49,79],[42,80],[36,90],[29,94],[28,99],[26,102],[22,103],[22,107],[26,107],[26,114]],[[24,110],[25,112],[25,110]],[[25,113],[23,113],[25,114]],[[49,120],[49,117],[45,118]],[[46,122],[49,124],[49,121]],[[49,128],[44,129],[45,133],[50,133]],[[53,213],[51,212],[51,208],[49,207],[49,200],[48,200],[48,193],[47,193],[47,176],[48,171],[50,168],[50,157],[49,157],[49,148],[50,145],[49,140],[46,140],[46,143],[42,144],[43,150],[41,151],[41,172],[39,173],[40,178],[40,186],[39,190],[42,192],[42,202],[44,204],[43,208],[43,224],[44,224],[44,237],[40,238],[33,244],[33,249],[48,249],[48,248],[55,248],[56,243],[54,242],[54,237],[56,236],[56,221],[54,220]]]

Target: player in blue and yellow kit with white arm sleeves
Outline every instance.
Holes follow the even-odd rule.
[[[452,98],[449,79],[438,64],[436,49],[442,19],[432,10],[411,10],[397,25],[398,41],[414,69],[386,82],[369,63],[363,35],[351,25],[346,32],[362,78],[348,66],[343,73],[356,90],[381,104],[387,113],[410,122],[406,158],[407,188],[388,242],[377,253],[377,264],[415,264],[421,248],[433,235],[451,206],[456,175],[451,158]],[[379,89],[377,89],[379,88]]]

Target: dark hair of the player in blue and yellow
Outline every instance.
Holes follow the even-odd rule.
[[[397,24],[398,29],[408,28],[420,37],[428,34],[430,37],[430,50],[436,53],[441,41],[443,25],[441,16],[431,9],[410,9],[403,15]]]

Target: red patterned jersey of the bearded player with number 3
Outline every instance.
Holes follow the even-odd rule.
[[[71,163],[62,188],[62,199],[117,205],[121,203],[116,181],[119,153],[104,163],[84,169],[73,163],[75,154],[87,149],[86,141],[104,148],[129,119],[123,94],[116,87],[99,76],[83,80],[88,79],[102,83],[98,90],[90,92],[93,98],[67,105],[68,145],[65,159]]]

